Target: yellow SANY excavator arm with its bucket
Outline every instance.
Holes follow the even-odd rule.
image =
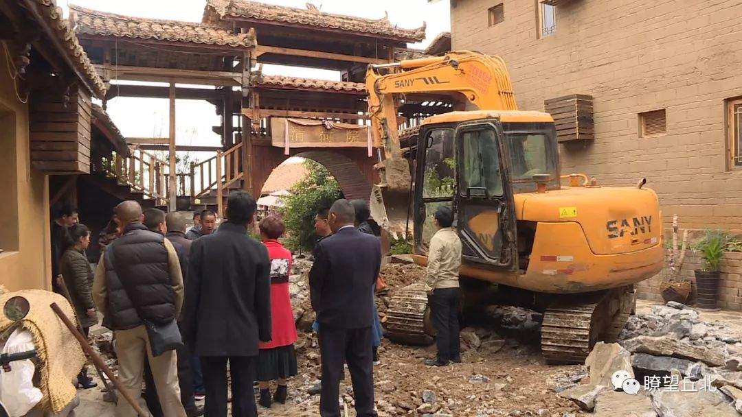
[[[410,167],[401,155],[395,95],[449,93],[486,110],[517,110],[505,62],[497,56],[452,51],[444,56],[370,65],[366,73],[369,117],[381,183],[372,190],[371,211],[394,236],[407,233]]]

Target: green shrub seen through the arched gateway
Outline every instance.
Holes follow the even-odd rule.
[[[291,250],[312,250],[315,235],[315,214],[343,198],[338,181],[329,171],[315,161],[303,162],[308,174],[283,198],[286,204],[281,212],[286,224],[286,246]]]

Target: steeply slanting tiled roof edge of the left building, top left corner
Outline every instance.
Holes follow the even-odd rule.
[[[93,63],[88,58],[85,50],[80,46],[77,36],[74,31],[70,28],[68,21],[62,16],[62,9],[56,7],[55,0],[34,0],[39,4],[39,10],[42,13],[42,17],[45,20],[51,30],[56,34],[65,50],[62,53],[66,53],[72,59],[75,67],[80,73],[85,74],[85,80],[88,86],[92,88],[93,94],[98,98],[105,96],[105,83],[98,76],[98,73],[93,67]],[[39,22],[41,23],[41,22]]]

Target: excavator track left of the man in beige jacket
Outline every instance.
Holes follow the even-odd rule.
[[[433,343],[426,324],[427,293],[421,284],[411,284],[392,293],[387,307],[386,336],[402,344]]]

